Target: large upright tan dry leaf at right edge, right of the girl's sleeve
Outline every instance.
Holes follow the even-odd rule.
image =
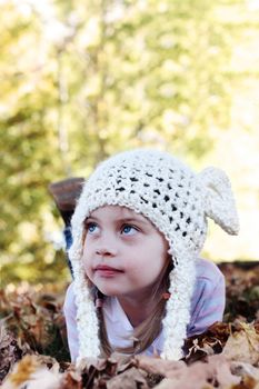
[[[248,323],[240,323],[241,331],[232,333],[223,348],[223,356],[228,360],[259,363],[259,335],[255,327]]]

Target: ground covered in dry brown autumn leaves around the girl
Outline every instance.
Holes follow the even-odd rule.
[[[259,263],[225,263],[223,322],[187,340],[181,361],[143,356],[69,362],[62,295],[0,290],[3,389],[259,389]]]

